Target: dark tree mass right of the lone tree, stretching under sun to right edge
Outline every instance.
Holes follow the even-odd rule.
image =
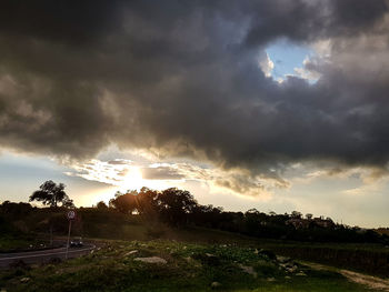
[[[266,214],[257,209],[242,212],[226,212],[222,208],[201,205],[190,192],[176,188],[164,191],[142,188],[127,193],[117,192],[110,200],[110,208],[130,214],[137,211],[138,219],[152,226],[162,221],[173,226],[197,225],[239,232],[247,235],[281,240],[301,240],[318,242],[380,242],[375,232],[360,229],[346,229],[327,218],[316,218],[308,213],[306,219],[298,211],[291,214]],[[154,232],[154,231],[153,231]]]

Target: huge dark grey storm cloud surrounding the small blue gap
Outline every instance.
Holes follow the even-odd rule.
[[[347,1],[2,1],[0,143],[90,158],[110,143],[278,178],[389,160],[388,7]],[[279,84],[278,38],[330,40]]]

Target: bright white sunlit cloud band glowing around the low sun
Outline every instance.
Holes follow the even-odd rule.
[[[273,189],[288,187],[287,181],[256,177],[247,170],[222,170],[189,162],[138,163],[126,159],[94,159],[87,163],[76,162],[69,167],[72,171],[66,172],[67,175],[103,182],[123,191],[142,187],[158,190],[180,188],[188,181],[197,181],[207,184],[212,193],[270,198]]]

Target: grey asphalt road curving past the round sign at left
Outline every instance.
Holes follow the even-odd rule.
[[[78,258],[90,253],[96,248],[94,244],[84,244],[82,248],[69,248],[68,259]],[[0,269],[7,269],[10,264],[22,260],[27,264],[48,263],[52,259],[66,259],[67,249],[58,248],[43,251],[28,251],[16,253],[0,253]]]

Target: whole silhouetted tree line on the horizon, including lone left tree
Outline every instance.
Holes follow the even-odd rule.
[[[41,184],[39,190],[30,195],[30,201],[39,201],[53,209],[74,208],[73,201],[64,192],[64,184],[52,181]],[[28,203],[16,204],[6,201],[0,205],[0,211],[19,217],[30,207]],[[144,224],[162,222],[173,228],[202,226],[281,240],[389,243],[387,234],[338,224],[330,218],[313,218],[310,213],[303,217],[298,211],[277,214],[260,212],[257,209],[231,212],[220,207],[202,205],[189,191],[177,188],[162,191],[142,188],[139,191],[117,192],[108,205],[101,201],[94,209],[141,219]]]

